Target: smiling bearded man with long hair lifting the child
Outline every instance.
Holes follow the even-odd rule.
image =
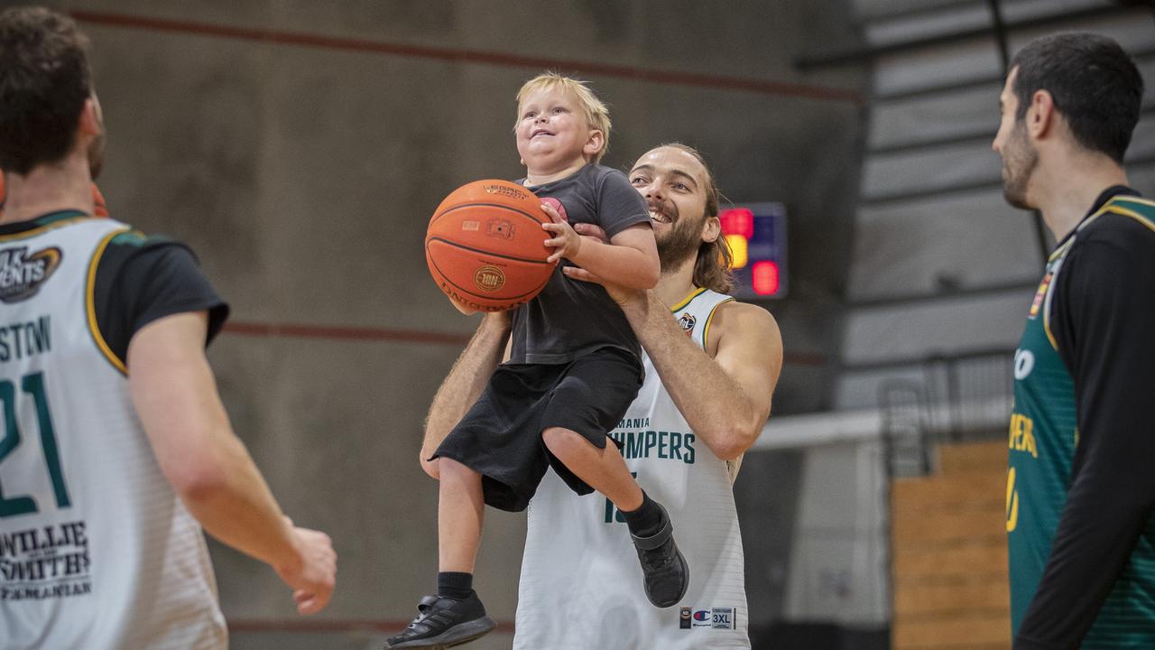
[[[781,334],[769,312],[725,295],[732,281],[718,191],[698,152],[656,147],[634,163],[629,182],[649,207],[662,275],[649,291],[605,286],[638,334],[646,365],[638,397],[610,436],[639,485],[660,495],[679,548],[700,569],[673,612],[650,607],[621,514],[605,498],[575,497],[550,473],[529,508],[514,648],[750,648],[731,482],[769,414]],[[579,267],[564,272],[598,281]],[[507,315],[485,317],[430,408],[423,459],[484,385],[508,337]],[[423,464],[438,474],[437,460]]]

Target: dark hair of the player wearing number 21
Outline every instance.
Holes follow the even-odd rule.
[[[64,158],[91,91],[88,38],[72,19],[0,13],[0,169],[24,176]]]

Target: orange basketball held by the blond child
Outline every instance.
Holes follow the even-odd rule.
[[[505,311],[545,287],[557,263],[543,242],[549,215],[532,192],[508,180],[454,190],[430,219],[425,261],[437,286],[476,311]]]

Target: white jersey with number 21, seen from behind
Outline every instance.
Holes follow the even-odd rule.
[[[126,228],[62,214],[0,236],[6,650],[228,645],[204,535],[95,326],[96,266]]]

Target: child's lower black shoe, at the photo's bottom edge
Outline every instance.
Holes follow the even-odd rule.
[[[426,596],[417,611],[420,613],[409,627],[386,640],[386,648],[449,648],[480,638],[498,627],[485,615],[476,593],[464,600]]]

